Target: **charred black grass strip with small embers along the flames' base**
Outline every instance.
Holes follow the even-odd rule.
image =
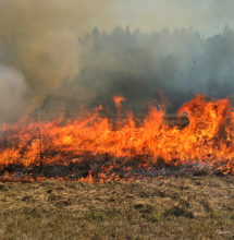
[[[40,179],[64,179],[77,181],[91,175],[94,182],[103,181],[128,181],[155,178],[171,178],[180,176],[223,176],[218,170],[219,166],[199,163],[177,164],[176,159],[165,164],[162,158],[150,156],[135,156],[133,158],[112,157],[108,154],[91,156],[89,154],[75,156],[75,161],[65,158],[57,163],[46,163],[38,159],[37,165],[8,165],[0,167],[0,182],[33,182]],[[73,158],[74,159],[74,158]],[[103,178],[104,176],[104,178]]]

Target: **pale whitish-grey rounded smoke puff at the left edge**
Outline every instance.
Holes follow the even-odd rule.
[[[25,108],[24,75],[12,67],[0,65],[0,123],[20,117]]]

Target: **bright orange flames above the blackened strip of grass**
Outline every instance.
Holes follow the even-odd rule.
[[[120,109],[124,98],[113,99]],[[169,125],[164,111],[157,107],[140,123],[128,115],[118,128],[98,112],[96,109],[65,122],[57,119],[35,123],[23,119],[16,124],[4,124],[0,134],[0,172],[9,178],[4,170],[9,166],[30,168],[91,161],[87,176],[79,181],[95,182],[94,176],[100,182],[119,181],[124,176],[113,169],[121,166],[127,175],[134,159],[140,158],[143,161],[137,166],[145,169],[163,160],[169,166],[208,164],[225,175],[234,175],[234,112],[227,99],[207,101],[196,95],[178,110],[178,117],[185,113],[189,120],[184,128]],[[108,165],[104,156],[119,160]],[[134,179],[130,175],[126,178]]]

